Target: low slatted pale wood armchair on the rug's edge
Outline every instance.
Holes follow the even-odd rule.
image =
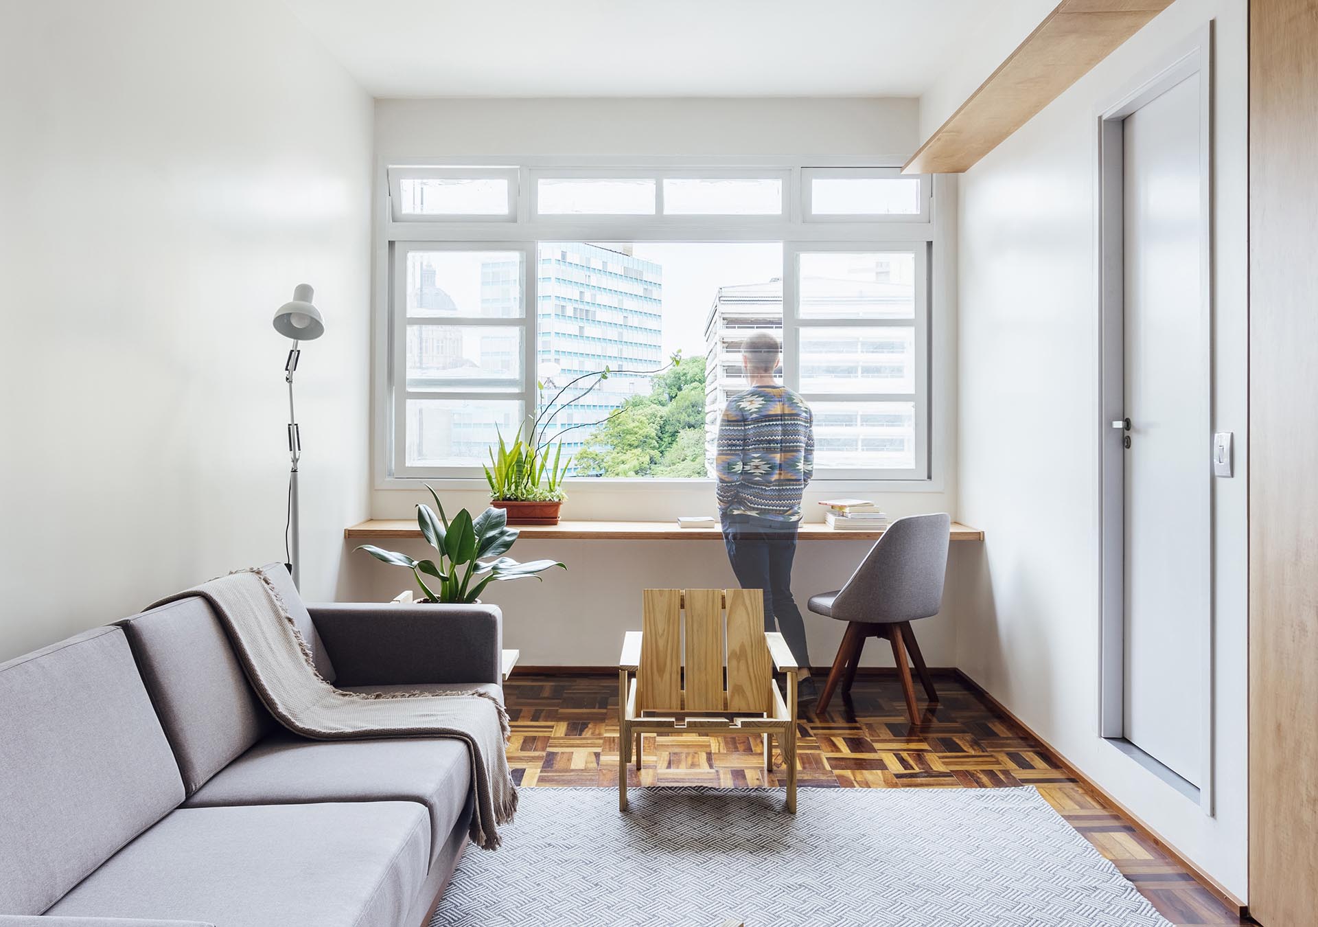
[[[764,630],[763,592],[646,589],[642,601],[642,630],[627,632],[618,661],[618,807],[627,810],[627,763],[635,757],[641,769],[642,734],[725,731],[762,734],[766,771],[778,737],[786,807],[796,814],[796,661],[782,634]],[[786,698],[774,666],[787,675]]]

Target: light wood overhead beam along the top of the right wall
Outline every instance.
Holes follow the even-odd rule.
[[[920,145],[902,173],[969,170],[1170,4],[1062,0]]]

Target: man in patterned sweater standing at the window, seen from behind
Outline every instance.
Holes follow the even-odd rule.
[[[742,345],[750,389],[728,401],[718,423],[718,514],[733,572],[743,589],[764,591],[764,629],[783,633],[799,678],[809,679],[805,622],[792,599],[792,558],[801,494],[815,468],[813,415],[779,386],[782,345],[755,332]]]

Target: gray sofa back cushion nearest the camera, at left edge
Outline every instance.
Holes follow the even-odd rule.
[[[0,663],[0,911],[41,914],[182,800],[123,630]]]

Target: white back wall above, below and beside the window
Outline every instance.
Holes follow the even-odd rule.
[[[376,102],[378,164],[409,158],[453,156],[861,156],[904,158],[916,146],[917,105],[911,99],[397,99]],[[956,210],[949,183],[940,200]],[[954,261],[954,241],[944,243],[944,261]],[[949,286],[950,273],[936,286]],[[953,297],[941,316],[954,326]],[[949,344],[952,339],[949,338]],[[950,345],[954,363],[954,344]],[[953,417],[954,377],[941,384],[945,401],[937,409]],[[917,493],[866,493],[892,514],[952,512],[956,514],[956,456],[949,450],[942,489]],[[807,496],[808,517],[821,521],[813,502],[837,496],[824,484]],[[488,493],[444,491],[444,505],[473,512],[489,504]],[[424,491],[377,489],[372,505],[377,518],[411,518]],[[670,520],[677,514],[716,514],[712,484],[675,487],[587,485],[572,488],[564,518]],[[378,542],[390,546],[389,542]],[[966,545],[958,545],[962,547]],[[970,545],[978,546],[978,545]],[[397,543],[414,556],[420,542]],[[351,550],[351,545],[345,545]],[[837,653],[844,625],[809,614],[811,595],[836,589],[863,556],[863,542],[801,542],[793,568],[793,591],[805,614],[811,658],[828,665]],[[622,632],[641,626],[641,589],[646,587],[735,585],[728,555],[718,542],[697,541],[523,541],[518,559],[552,556],[567,572],[547,575],[543,584],[519,580],[492,585],[482,597],[503,608],[506,642],[521,649],[525,665],[605,666],[617,662]],[[390,599],[409,585],[410,575],[369,559],[351,568],[353,596]],[[961,553],[953,555],[956,576]],[[949,614],[920,622],[924,654],[931,666],[952,666],[954,622]],[[891,653],[871,642],[871,665],[892,665]]]

